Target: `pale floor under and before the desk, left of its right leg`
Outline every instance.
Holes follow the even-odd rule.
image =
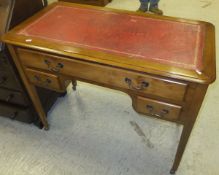
[[[0,118],[2,174],[168,174],[181,132],[134,112],[126,94],[85,83],[69,88],[49,122],[46,132]]]

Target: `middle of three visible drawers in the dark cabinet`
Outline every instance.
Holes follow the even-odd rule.
[[[22,106],[28,105],[28,101],[25,98],[25,94],[17,91],[8,90],[5,88],[0,88],[0,100],[3,102],[18,104]]]

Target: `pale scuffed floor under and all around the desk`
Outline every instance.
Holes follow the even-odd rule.
[[[113,0],[108,7],[138,5]],[[168,16],[212,22],[219,32],[219,1],[161,0],[160,7]],[[177,175],[219,174],[218,92],[217,81],[208,89]],[[45,132],[0,118],[0,175],[168,175],[181,133],[174,123],[137,114],[126,94],[86,83],[76,92],[69,87],[49,123]]]

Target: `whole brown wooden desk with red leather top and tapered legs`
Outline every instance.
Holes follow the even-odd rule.
[[[58,2],[3,41],[45,129],[35,86],[63,91],[80,80],[121,90],[137,112],[184,126],[174,173],[216,77],[214,38],[206,22]]]

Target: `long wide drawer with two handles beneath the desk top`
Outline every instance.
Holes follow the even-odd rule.
[[[27,67],[40,68],[54,73],[133,90],[136,93],[182,101],[187,84],[136,73],[111,66],[88,63],[71,58],[18,49],[22,63]]]

